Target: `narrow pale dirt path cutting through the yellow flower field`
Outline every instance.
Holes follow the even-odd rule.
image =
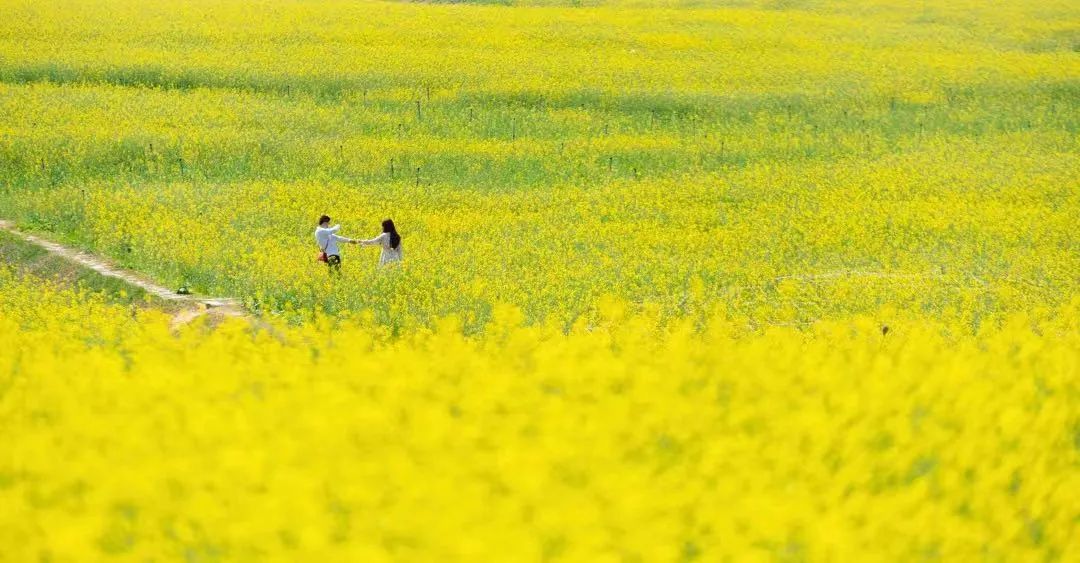
[[[120,268],[100,256],[95,256],[93,254],[78,251],[69,246],[57,244],[40,237],[23,232],[16,229],[10,222],[0,219],[0,230],[11,232],[12,234],[15,234],[31,244],[41,246],[50,254],[54,254],[63,257],[64,259],[79,264],[80,266],[94,270],[102,276],[123,280],[125,283],[135,285],[166,301],[188,305],[188,307],[185,307],[173,317],[173,329],[178,329],[188,324],[204,314],[212,317],[244,317],[247,314],[238,299],[230,297],[180,295],[167,287],[158,285],[149,278],[135,273],[131,270]]]

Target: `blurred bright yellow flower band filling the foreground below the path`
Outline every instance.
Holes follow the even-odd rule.
[[[166,317],[0,274],[0,560],[1080,557],[1080,301],[564,332]]]

